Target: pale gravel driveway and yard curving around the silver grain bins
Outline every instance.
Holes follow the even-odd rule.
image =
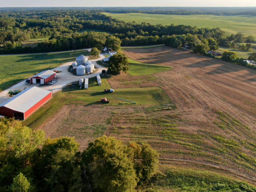
[[[90,60],[92,61],[92,63],[95,65],[96,67],[96,71],[92,74],[89,75],[82,75],[82,76],[77,76],[77,75],[73,75],[72,73],[68,72],[68,67],[74,62],[68,62],[68,63],[64,63],[54,69],[54,70],[60,70],[61,73],[56,73],[56,77],[58,78],[58,81],[56,83],[54,83],[53,85],[45,85],[45,86],[40,86],[40,88],[42,89],[46,89],[46,90],[50,90],[53,93],[57,92],[58,90],[61,90],[64,86],[66,86],[67,84],[74,82],[74,81],[78,81],[81,78],[92,78],[92,77],[96,77],[96,75],[98,73],[101,73],[102,70],[107,70],[107,68],[102,67],[101,65],[97,64],[95,61],[99,61],[102,60],[104,57],[103,54],[100,54],[100,57],[94,60]],[[6,101],[6,99],[9,99],[10,96],[8,95],[9,90],[23,90],[24,87],[32,87],[32,86],[39,86],[39,83],[37,84],[29,84],[26,83],[24,81],[21,81],[13,86],[11,86],[10,88],[3,90],[2,92],[0,92],[0,103],[3,103],[4,101]]]

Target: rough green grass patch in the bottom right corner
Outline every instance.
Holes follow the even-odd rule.
[[[163,166],[163,174],[157,175],[148,191],[255,191],[246,182],[223,175],[190,168]],[[240,189],[240,190],[239,190]]]

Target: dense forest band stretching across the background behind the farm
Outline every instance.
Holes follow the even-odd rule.
[[[88,29],[105,32],[87,32]],[[36,47],[22,46],[33,38],[49,37]],[[198,28],[185,25],[152,25],[123,22],[97,10],[2,10],[0,17],[0,54],[39,53],[97,47],[99,50],[109,39],[121,46],[143,46],[164,43],[179,48],[186,46],[196,53],[217,50],[218,46],[249,50],[253,36],[241,33],[226,35],[220,28]],[[120,41],[121,40],[121,41]],[[235,62],[237,63],[237,62]]]

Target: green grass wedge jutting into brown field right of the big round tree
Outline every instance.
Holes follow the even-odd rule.
[[[160,73],[160,72],[164,72],[172,69],[171,67],[163,66],[163,65],[141,63],[139,61],[135,61],[130,58],[128,58],[128,61],[129,61],[128,74],[131,76],[149,75],[149,74]]]

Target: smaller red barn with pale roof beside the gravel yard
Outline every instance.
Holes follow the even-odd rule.
[[[40,83],[40,84],[45,84],[50,82],[55,78],[56,72],[51,71],[51,70],[46,70],[42,71],[33,77],[31,77],[30,82],[35,84],[35,83]]]

